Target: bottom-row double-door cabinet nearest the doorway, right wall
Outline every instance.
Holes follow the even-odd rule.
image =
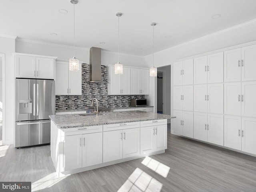
[[[173,133],[193,138],[193,112],[174,110],[173,116],[176,116],[172,119]]]

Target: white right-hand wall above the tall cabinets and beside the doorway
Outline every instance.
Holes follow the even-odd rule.
[[[251,20],[249,22],[186,42],[184,44],[156,52],[154,54],[154,66],[167,66],[172,64],[174,60],[252,42],[255,40],[256,20]],[[145,56],[145,63],[148,67],[152,66],[152,54]],[[150,78],[150,85],[155,84],[155,81],[155,78]],[[147,96],[147,98],[150,101],[150,105],[156,106],[156,86],[150,86],[150,95]]]

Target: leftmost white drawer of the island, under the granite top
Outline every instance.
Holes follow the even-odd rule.
[[[102,132],[102,125],[61,129],[61,136]]]

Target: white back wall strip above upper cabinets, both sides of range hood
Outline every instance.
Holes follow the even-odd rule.
[[[46,56],[56,56],[58,59],[68,60],[73,57],[73,47],[63,46],[58,44],[42,43],[24,41],[21,39],[16,40],[16,52],[27,53],[27,54],[38,54]],[[87,48],[76,48],[75,56],[80,61],[89,64],[90,62],[90,49]],[[101,64],[109,65],[116,64],[118,62],[118,54],[102,50],[101,53]],[[120,54],[120,63],[127,66],[138,66],[145,67],[144,57],[133,56],[128,54]]]

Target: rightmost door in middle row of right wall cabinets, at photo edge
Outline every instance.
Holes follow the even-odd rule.
[[[256,82],[242,82],[242,116],[256,117]]]

